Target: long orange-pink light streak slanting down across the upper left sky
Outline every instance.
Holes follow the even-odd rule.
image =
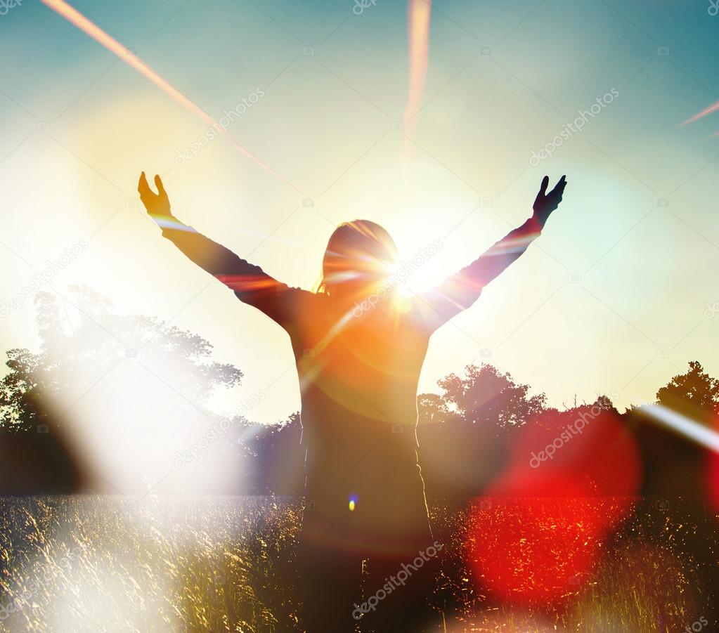
[[[99,45],[104,46],[107,50],[114,53],[124,61],[127,65],[129,65],[131,68],[134,68],[134,70],[137,70],[138,73],[140,73],[143,77],[149,79],[152,81],[152,83],[157,86],[157,88],[160,88],[165,94],[173,98],[177,103],[180,104],[180,106],[183,106],[183,108],[186,108],[186,110],[190,111],[195,116],[198,116],[198,118],[202,119],[206,124],[211,125],[216,129],[217,131],[224,134],[227,139],[229,139],[230,142],[236,147],[239,152],[242,152],[244,156],[249,158],[249,160],[252,160],[252,162],[255,162],[257,165],[260,165],[263,170],[269,172],[279,180],[282,180],[286,184],[290,185],[293,189],[299,191],[302,193],[302,191],[296,187],[296,185],[293,185],[292,182],[287,180],[283,175],[278,174],[278,172],[275,172],[272,167],[269,165],[266,165],[265,162],[262,162],[259,158],[257,158],[254,154],[247,151],[247,149],[244,149],[237,140],[235,140],[231,134],[223,127],[221,126],[217,121],[215,121],[209,114],[206,113],[200,106],[196,105],[196,103],[193,103],[189,98],[187,98],[183,93],[178,91],[177,88],[170,85],[168,81],[160,77],[155,70],[152,70],[150,66],[148,66],[145,62],[143,62],[137,55],[134,55],[133,52],[127,49],[127,47],[124,47],[120,42],[114,39],[114,37],[111,37],[109,34],[104,32],[103,29],[101,29],[97,24],[92,22],[90,19],[86,18],[83,14],[80,13],[77,9],[75,9],[73,6],[70,6],[65,0],[40,0],[42,4],[45,4],[48,8],[52,9],[52,11],[55,11],[60,17],[65,18],[70,24],[73,24],[73,26],[80,29],[83,33],[88,35],[89,37],[92,37],[93,40],[98,42]]]

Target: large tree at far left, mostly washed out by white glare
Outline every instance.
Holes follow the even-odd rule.
[[[0,381],[5,433],[49,431],[105,491],[146,492],[163,477],[163,490],[238,490],[247,420],[209,406],[242,371],[211,361],[201,336],[118,313],[87,287],[67,302],[40,293],[35,305],[40,351],[9,351]]]

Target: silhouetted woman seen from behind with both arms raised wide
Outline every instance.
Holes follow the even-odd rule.
[[[394,292],[397,249],[373,222],[336,228],[319,292],[308,292],[181,223],[159,176],[155,184],[158,194],[143,172],[138,189],[162,235],[290,336],[306,452],[306,485],[298,491],[306,497],[298,544],[306,629],[341,633],[362,622],[376,631],[417,630],[441,545],[432,537],[417,463],[417,384],[429,337],[539,236],[562,200],[564,176],[549,194],[544,177],[522,226],[411,299]]]

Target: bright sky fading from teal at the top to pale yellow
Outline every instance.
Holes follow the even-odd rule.
[[[251,103],[229,133],[282,178],[23,0],[0,15],[3,305],[50,265],[44,290],[86,284],[209,339],[244,371],[218,409],[260,390],[250,417],[274,422],[299,409],[288,337],[161,239],[139,172],[163,176],[180,219],[293,286],[316,283],[342,221],[383,224],[406,259],[439,239],[415,290],[523,223],[545,174],[567,174],[541,238],[433,336],[421,391],[482,361],[557,407],[649,402],[694,359],[719,376],[719,113],[682,126],[719,99],[709,0],[435,0],[412,116],[403,1],[72,4],[215,119]],[[2,349],[37,347],[32,301],[2,315]]]

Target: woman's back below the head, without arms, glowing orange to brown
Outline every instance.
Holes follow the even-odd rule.
[[[328,295],[306,297],[286,329],[301,385],[305,492],[315,514],[363,547],[401,540],[412,550],[413,533],[420,542],[429,537],[416,442],[429,332],[413,302],[393,294],[368,310]]]

